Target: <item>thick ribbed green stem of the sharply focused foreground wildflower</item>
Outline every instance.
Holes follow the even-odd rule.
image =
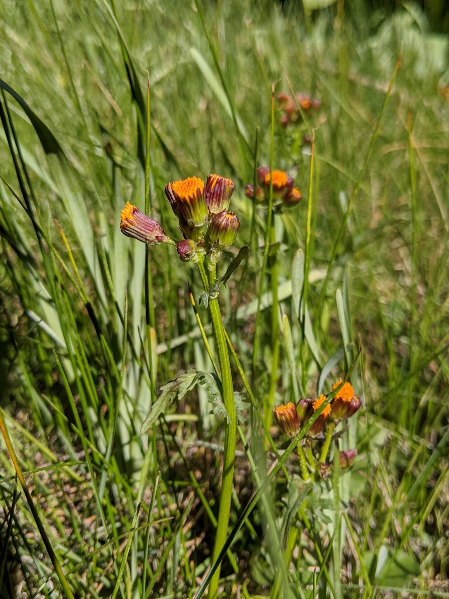
[[[201,274],[201,279],[205,291],[209,290],[209,282],[204,269],[204,259],[199,260],[198,270]],[[211,285],[215,282],[216,277],[215,266],[210,273]],[[225,331],[223,329],[222,314],[220,313],[219,301],[217,298],[209,300],[209,313],[214,329],[214,336],[219,354],[220,374],[222,378],[222,393],[223,403],[225,404],[229,423],[225,419],[225,448],[223,452],[223,475],[222,475],[222,492],[220,494],[219,518],[217,524],[217,533],[214,541],[214,549],[212,552],[212,561],[214,562],[220,555],[223,545],[227,537],[227,525],[229,523],[230,503],[232,499],[232,481],[234,474],[235,461],[235,441],[236,441],[236,414],[234,403],[234,392],[232,388],[232,375],[230,372],[229,354],[227,353],[227,345]],[[220,567],[214,573],[209,587],[209,597],[214,599],[217,594],[217,589],[220,580]]]

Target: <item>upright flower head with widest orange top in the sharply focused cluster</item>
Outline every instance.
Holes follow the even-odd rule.
[[[204,183],[198,177],[187,177],[168,183],[165,195],[174,213],[186,220],[187,225],[202,227],[207,221]]]

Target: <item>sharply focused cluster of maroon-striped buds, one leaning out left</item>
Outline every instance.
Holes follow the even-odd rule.
[[[201,253],[208,254],[208,261],[214,264],[222,251],[232,246],[240,227],[238,217],[227,211],[233,190],[232,180],[214,174],[207,177],[206,184],[199,177],[168,183],[165,195],[184,237],[178,243],[165,234],[156,220],[129,202],[122,210],[120,229],[128,237],[150,245],[175,244],[184,262],[198,262]]]

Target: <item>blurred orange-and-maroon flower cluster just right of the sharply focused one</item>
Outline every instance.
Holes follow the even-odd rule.
[[[301,200],[301,191],[293,185],[293,179],[289,173],[284,171],[272,171],[269,167],[259,167],[257,169],[256,201],[266,202],[269,196],[269,188],[272,180],[273,186],[273,206],[275,209],[282,207],[296,206]],[[254,198],[254,185],[245,187],[245,195],[248,198]]]

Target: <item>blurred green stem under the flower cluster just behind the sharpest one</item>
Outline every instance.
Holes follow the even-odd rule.
[[[277,385],[277,374],[279,364],[279,320],[278,320],[278,262],[277,262],[277,249],[274,246],[276,243],[276,234],[274,228],[274,217],[271,222],[270,240],[273,249],[273,256],[271,261],[271,374],[270,374],[270,387],[268,397],[263,408],[263,418],[265,420],[266,428],[270,428],[272,413],[274,408],[274,394],[276,392]],[[265,438],[263,441],[263,449],[268,449],[268,439]]]

